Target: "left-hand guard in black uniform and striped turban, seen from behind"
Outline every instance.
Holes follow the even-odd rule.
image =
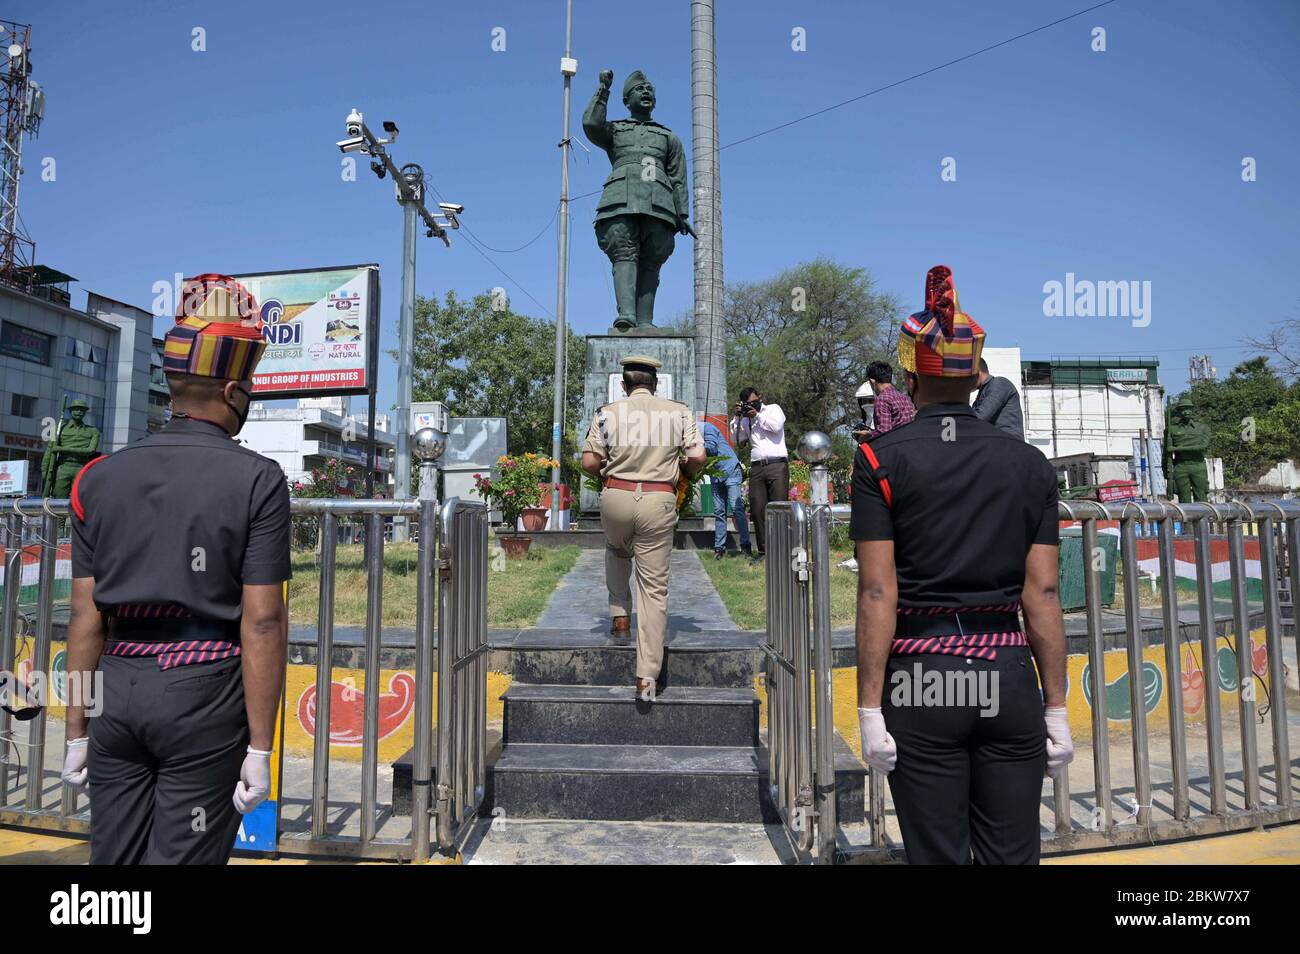
[[[187,279],[162,359],[172,420],[73,483],[68,669],[103,682],[98,712],[68,707],[64,779],[88,782],[94,864],[224,864],[269,793],[289,487],[231,439],[264,350],[243,286]]]

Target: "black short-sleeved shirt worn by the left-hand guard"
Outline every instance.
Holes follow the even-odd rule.
[[[176,603],[238,620],[246,584],[290,577],[289,486],[216,424],[176,417],[94,461],[77,482],[73,577],[95,603]]]

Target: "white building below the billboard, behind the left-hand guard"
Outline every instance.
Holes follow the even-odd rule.
[[[351,402],[338,398],[300,398],[298,407],[268,407],[254,403],[239,441],[280,464],[290,481],[311,480],[330,458],[356,468],[342,493],[365,493],[365,459],[369,433],[365,413],[351,413]],[[374,416],[374,490],[391,495],[391,454],[396,438],[389,433],[387,415]]]

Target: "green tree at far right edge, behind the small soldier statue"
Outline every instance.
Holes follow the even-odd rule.
[[[1209,456],[1223,459],[1228,486],[1300,459],[1300,381],[1287,386],[1266,357],[1243,361],[1222,381],[1197,381],[1186,396],[1210,425]]]

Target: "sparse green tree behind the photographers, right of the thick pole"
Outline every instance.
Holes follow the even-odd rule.
[[[858,420],[867,365],[893,361],[898,302],[871,274],[816,259],[727,287],[727,381],[754,386],[785,411],[786,432],[835,433]]]

